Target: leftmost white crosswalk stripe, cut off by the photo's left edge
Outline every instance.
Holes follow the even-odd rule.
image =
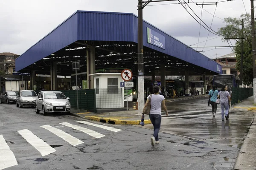
[[[15,155],[6,143],[3,135],[0,135],[0,170],[17,165]]]

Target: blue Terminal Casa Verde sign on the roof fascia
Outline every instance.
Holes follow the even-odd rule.
[[[148,29],[148,43],[165,49],[165,37],[154,30]]]

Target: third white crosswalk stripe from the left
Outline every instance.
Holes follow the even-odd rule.
[[[73,146],[84,143],[84,142],[80,141],[79,139],[75,138],[74,136],[71,136],[70,134],[68,134],[60,129],[57,129],[55,127],[52,127],[50,125],[44,125],[41,127],[49,130],[50,132],[54,133],[55,135],[57,135],[58,137],[62,138],[65,141],[67,141],[68,143],[72,144]]]

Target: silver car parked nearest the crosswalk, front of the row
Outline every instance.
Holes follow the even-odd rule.
[[[43,115],[53,112],[70,113],[68,99],[61,91],[41,91],[36,98],[35,112],[43,111]]]

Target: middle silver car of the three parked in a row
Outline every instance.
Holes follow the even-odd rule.
[[[22,108],[23,106],[35,107],[36,93],[32,90],[19,91],[16,97],[16,106]]]

